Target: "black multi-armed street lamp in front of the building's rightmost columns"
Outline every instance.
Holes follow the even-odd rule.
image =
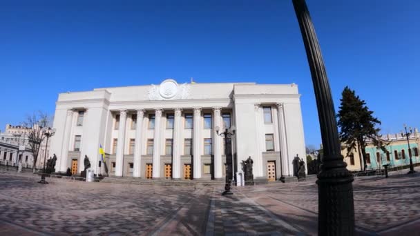
[[[222,137],[225,137],[225,155],[226,155],[226,184],[225,184],[225,192],[222,195],[232,195],[231,192],[231,182],[233,181],[233,153],[229,152],[232,150],[230,146],[228,146],[229,142],[227,139],[231,139],[233,135],[235,135],[236,128],[235,126],[231,126],[231,128],[225,128],[225,131],[220,132],[220,127],[216,126],[216,134]],[[232,142],[230,142],[231,144]],[[228,158],[228,155],[231,155],[231,158]]]

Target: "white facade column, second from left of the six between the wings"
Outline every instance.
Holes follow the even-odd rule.
[[[135,144],[133,157],[133,177],[140,177],[142,172],[142,134],[144,109],[137,109],[137,123],[135,124]]]

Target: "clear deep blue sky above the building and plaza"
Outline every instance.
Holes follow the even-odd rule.
[[[382,130],[419,126],[420,1],[307,0],[334,105],[356,90]],[[160,83],[297,83],[305,142],[321,143],[292,0],[0,1],[0,129],[59,92]]]

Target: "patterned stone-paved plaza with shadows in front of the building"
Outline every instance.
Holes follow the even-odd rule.
[[[234,188],[86,183],[0,173],[0,235],[316,235],[314,181]],[[358,235],[419,235],[420,174],[357,177]]]

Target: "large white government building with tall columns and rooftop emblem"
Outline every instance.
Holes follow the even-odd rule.
[[[96,88],[59,94],[50,155],[56,170],[79,174],[88,156],[95,174],[99,146],[111,176],[148,179],[222,179],[225,145],[220,130],[236,126],[236,166],[251,157],[254,179],[293,175],[305,157],[296,84],[182,83]],[[238,171],[237,168],[235,171]]]

